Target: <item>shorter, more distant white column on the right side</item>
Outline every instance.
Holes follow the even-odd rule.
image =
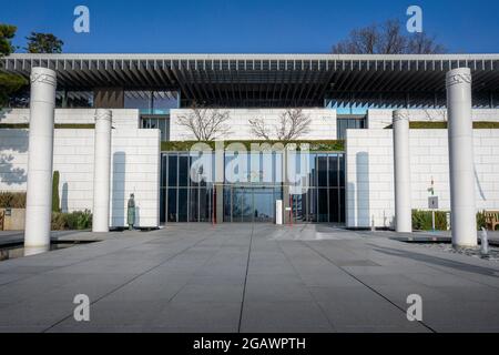
[[[395,230],[413,232],[410,206],[410,154],[409,116],[401,110],[394,111],[394,181],[395,181]]]

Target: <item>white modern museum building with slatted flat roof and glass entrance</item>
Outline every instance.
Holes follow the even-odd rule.
[[[469,68],[472,78],[476,210],[499,210],[499,54],[12,54],[0,59],[1,71],[26,78],[38,67],[57,75],[52,164],[60,173],[62,211],[94,206],[95,111],[111,111],[110,227],[126,224],[126,201],[134,193],[141,227],[274,222],[275,203],[283,200],[285,223],[393,229],[396,110],[410,126],[407,145],[397,143],[408,156],[399,160],[406,161],[404,179],[410,181],[410,200],[404,203],[427,210],[432,187],[438,209],[449,211],[446,73],[456,68]],[[0,191],[27,190],[29,105],[28,90],[0,112]],[[261,142],[253,130],[255,120],[266,124],[268,138],[275,141],[283,113],[299,109],[309,120],[297,138],[310,145],[306,191],[291,193],[276,179],[275,169],[268,172],[263,163],[267,153],[247,154],[247,181],[234,183],[227,176],[193,181],[194,159],[187,143],[195,135],[182,123],[193,105],[227,115],[226,130],[216,136],[225,144]],[[231,150],[213,154],[215,165],[234,159]],[[268,154],[273,162],[279,159],[276,152]],[[105,162],[106,155],[100,159]],[[102,189],[108,191],[105,184]],[[99,205],[105,207],[105,201]]]

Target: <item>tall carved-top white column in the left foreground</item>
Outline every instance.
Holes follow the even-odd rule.
[[[28,189],[24,246],[27,254],[50,245],[52,215],[53,119],[57,75],[47,68],[32,68],[30,129],[28,151]]]

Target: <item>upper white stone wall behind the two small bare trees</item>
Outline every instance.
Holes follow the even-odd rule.
[[[224,140],[257,140],[251,130],[249,120],[263,119],[266,125],[274,131],[278,125],[279,115],[284,109],[233,109],[228,111],[230,132],[223,136]],[[170,111],[170,139],[172,141],[194,140],[194,134],[185,126],[179,124],[179,116],[189,115],[190,109],[173,109]],[[336,140],[336,111],[330,109],[304,109],[303,112],[312,120],[309,132],[301,139],[309,140]]]

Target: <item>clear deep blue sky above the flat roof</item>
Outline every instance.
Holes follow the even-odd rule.
[[[88,34],[73,32],[78,4],[90,8]],[[406,19],[410,4],[450,52],[499,52],[498,0],[4,0],[0,22],[18,26],[17,45],[52,32],[64,52],[326,53],[353,28]]]

